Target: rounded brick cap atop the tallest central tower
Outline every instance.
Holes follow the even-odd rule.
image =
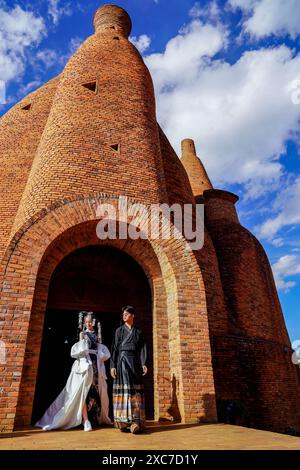
[[[95,32],[111,31],[128,38],[132,23],[127,11],[117,5],[103,5],[94,16]]]

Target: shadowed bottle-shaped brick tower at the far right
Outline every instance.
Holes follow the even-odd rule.
[[[299,432],[299,373],[267,256],[239,224],[234,195],[204,200],[229,314],[228,335],[212,335],[217,400],[239,401],[247,426]]]

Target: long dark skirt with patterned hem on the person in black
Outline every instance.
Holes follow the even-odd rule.
[[[132,423],[141,428],[145,426],[143,370],[139,357],[133,352],[120,354],[113,385],[113,410],[117,427]]]

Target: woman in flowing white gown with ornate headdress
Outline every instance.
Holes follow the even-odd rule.
[[[102,344],[99,322],[98,334],[95,332],[93,312],[80,312],[81,330],[82,320],[83,331],[71,349],[71,356],[76,361],[66,386],[35,424],[44,431],[70,429],[82,422],[84,431],[91,431],[98,424],[111,424],[104,364],[110,358],[110,352]]]

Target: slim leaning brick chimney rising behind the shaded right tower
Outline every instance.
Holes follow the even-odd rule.
[[[189,177],[195,197],[202,196],[203,191],[213,189],[213,185],[206,173],[203,163],[197,157],[195,143],[192,139],[184,139],[181,142],[182,158],[185,171]]]

